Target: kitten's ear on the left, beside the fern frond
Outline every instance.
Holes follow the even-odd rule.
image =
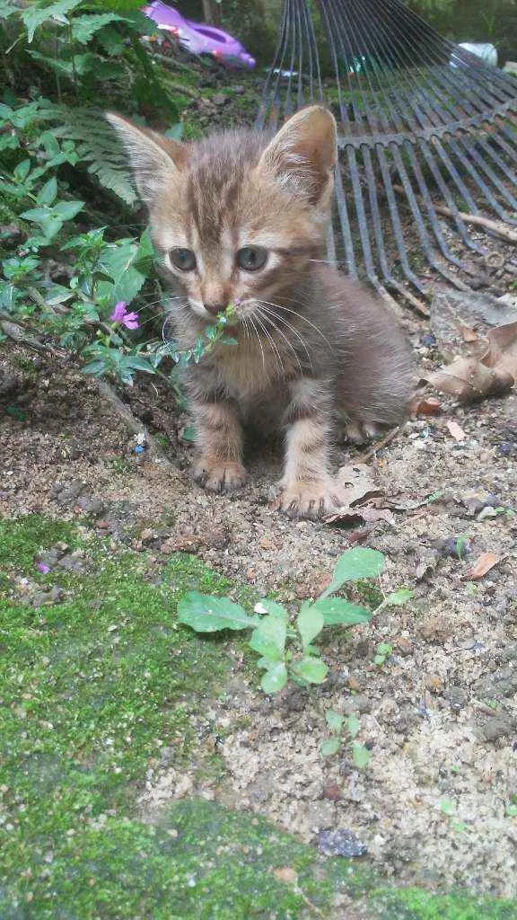
[[[167,178],[177,174],[185,164],[186,148],[149,128],[137,127],[120,115],[106,112],[106,118],[121,135],[140,197],[151,203],[163,190]]]

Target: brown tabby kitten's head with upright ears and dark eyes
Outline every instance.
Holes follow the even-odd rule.
[[[225,132],[194,144],[108,118],[165,270],[196,316],[212,321],[233,304],[238,322],[288,296],[321,258],[337,159],[327,109],[302,109],[272,139]]]

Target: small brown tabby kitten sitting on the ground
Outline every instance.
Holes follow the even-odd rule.
[[[349,434],[404,418],[408,347],[382,303],[323,261],[336,121],[302,109],[272,137],[224,132],[179,144],[108,115],[121,132],[151,233],[176,289],[170,316],[189,348],[226,305],[229,333],[185,375],[205,489],[245,482],[242,423],[285,430],[278,506],[316,517],[341,503],[330,468]]]

